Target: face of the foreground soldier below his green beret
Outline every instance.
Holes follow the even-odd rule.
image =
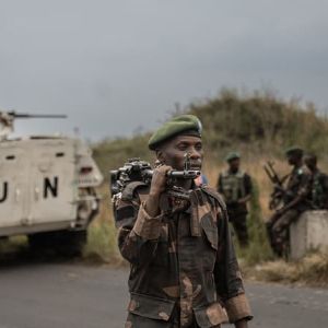
[[[191,169],[200,169],[203,159],[201,139],[194,136],[177,136],[167,141],[157,151],[157,159],[172,166],[174,169],[183,171],[185,165],[185,154],[190,154]]]

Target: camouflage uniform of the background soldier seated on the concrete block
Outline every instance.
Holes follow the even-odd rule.
[[[295,167],[290,174],[283,199],[284,206],[288,206],[296,197],[301,197],[301,201],[274,220],[272,226],[270,226],[271,246],[278,255],[282,255],[282,248],[289,243],[289,227],[291,223],[294,222],[302,212],[312,208],[312,183],[313,177],[306,166]]]

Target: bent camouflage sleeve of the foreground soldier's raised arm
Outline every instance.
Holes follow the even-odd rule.
[[[142,266],[156,253],[162,216],[151,218],[143,203],[118,200],[115,207],[118,248],[130,263]]]

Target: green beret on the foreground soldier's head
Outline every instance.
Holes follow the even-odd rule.
[[[201,122],[194,115],[180,115],[165,122],[153,133],[148,142],[151,150],[156,150],[162,142],[178,134],[192,134],[201,137]]]

